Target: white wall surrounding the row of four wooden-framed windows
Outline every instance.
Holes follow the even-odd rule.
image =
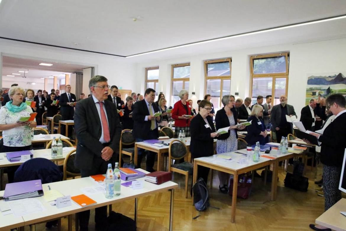
[[[342,72],[346,71],[346,38],[331,39],[319,42],[301,44],[281,44],[266,47],[256,47],[244,50],[225,51],[213,54],[183,57],[181,59],[160,60],[158,62],[137,64],[137,88],[144,91],[145,68],[160,66],[159,89],[163,88],[166,99],[170,100],[171,65],[191,63],[190,97],[193,91],[198,99],[204,96],[204,69],[203,62],[210,59],[225,57],[232,58],[231,91],[239,92],[244,99],[250,94],[250,56],[254,54],[290,52],[288,104],[295,108],[300,117],[300,110],[305,106],[307,77],[311,73]],[[169,105],[169,102],[168,102]],[[197,107],[197,102],[194,102]]]

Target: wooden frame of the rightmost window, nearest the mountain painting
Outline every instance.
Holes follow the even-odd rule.
[[[285,73],[265,73],[265,74],[254,74],[254,60],[255,59],[262,59],[262,58],[269,58],[269,57],[278,57],[278,56],[285,56],[286,59],[286,72]],[[254,84],[254,78],[269,78],[271,77],[272,82],[272,106],[274,106],[275,101],[275,82],[276,79],[286,79],[286,89],[285,89],[285,95],[287,96],[288,92],[288,74],[289,74],[289,52],[281,52],[281,53],[274,53],[274,54],[265,54],[265,55],[252,55],[250,56],[250,71],[251,71],[251,81],[250,81],[250,98],[252,99],[252,90],[253,90],[253,84]],[[265,97],[265,96],[263,96]]]

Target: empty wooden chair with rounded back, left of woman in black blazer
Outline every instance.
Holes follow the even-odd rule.
[[[168,171],[185,175],[185,198],[188,198],[189,175],[193,173],[193,164],[190,162],[182,162],[172,165],[172,161],[175,160],[175,162],[179,162],[178,160],[183,159],[187,154],[188,148],[185,143],[180,140],[171,141],[168,154]]]

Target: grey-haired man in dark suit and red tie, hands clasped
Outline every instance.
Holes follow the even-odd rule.
[[[107,79],[101,75],[89,81],[92,96],[78,102],[74,127],[78,138],[75,166],[82,177],[105,174],[108,163],[119,154],[121,125],[114,104],[107,99]],[[63,94],[62,94],[63,95]],[[80,230],[88,230],[90,211],[79,213]],[[107,206],[95,208],[95,230],[105,230]]]

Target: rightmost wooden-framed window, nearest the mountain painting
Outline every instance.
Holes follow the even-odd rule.
[[[280,104],[280,96],[287,95],[289,53],[251,56],[251,98],[272,95],[272,105]],[[264,102],[265,103],[265,102]]]

